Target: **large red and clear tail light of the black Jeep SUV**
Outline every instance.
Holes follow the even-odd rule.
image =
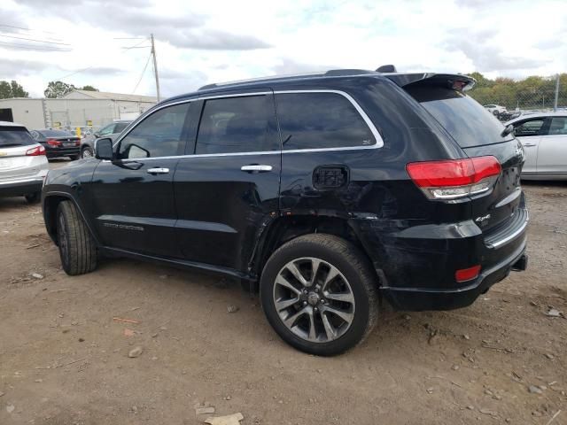
[[[408,174],[430,199],[456,199],[491,189],[501,172],[493,156],[412,162]]]

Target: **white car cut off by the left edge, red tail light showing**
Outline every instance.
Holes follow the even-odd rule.
[[[45,148],[35,143],[27,128],[0,121],[0,196],[38,202],[48,170]]]

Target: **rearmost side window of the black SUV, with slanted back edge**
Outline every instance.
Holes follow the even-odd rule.
[[[276,94],[283,151],[368,147],[377,143],[354,105],[338,93]]]

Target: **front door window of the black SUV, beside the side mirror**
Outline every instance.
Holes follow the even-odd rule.
[[[152,113],[120,141],[119,157],[156,158],[179,155],[185,147],[190,103],[175,104]]]

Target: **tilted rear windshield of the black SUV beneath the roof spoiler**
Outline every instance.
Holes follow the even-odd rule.
[[[441,87],[416,86],[406,88],[462,148],[511,140],[501,136],[501,122],[472,97]]]

